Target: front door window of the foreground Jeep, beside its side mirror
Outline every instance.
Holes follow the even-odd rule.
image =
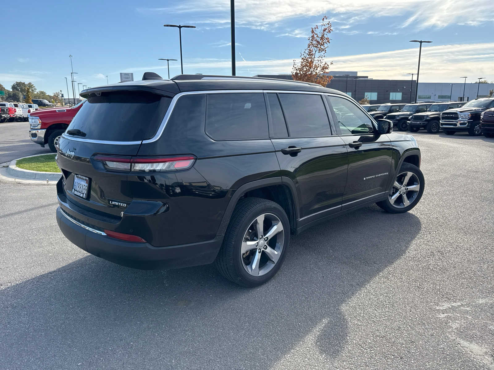
[[[374,132],[371,119],[352,102],[337,96],[327,96],[342,135]]]

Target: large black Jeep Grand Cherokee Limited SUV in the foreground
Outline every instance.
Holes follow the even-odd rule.
[[[339,91],[148,76],[82,91],[58,143],[57,222],[95,256],[143,269],[215,262],[256,286],[290,234],[372,203],[407,212],[422,196],[413,137]]]

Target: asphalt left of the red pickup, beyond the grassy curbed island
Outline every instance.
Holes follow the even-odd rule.
[[[51,151],[29,139],[29,122],[0,123],[0,163],[42,153]]]

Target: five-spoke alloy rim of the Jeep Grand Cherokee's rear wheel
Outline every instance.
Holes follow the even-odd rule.
[[[280,219],[265,213],[247,227],[240,248],[242,264],[249,275],[268,273],[280,259],[285,241],[285,230]]]

